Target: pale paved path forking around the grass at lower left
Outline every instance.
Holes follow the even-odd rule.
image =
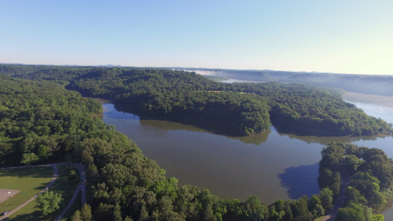
[[[30,167],[41,167],[41,166],[50,166],[53,168],[53,176],[52,179],[50,181],[50,183],[48,184],[48,188],[50,188],[56,181],[56,179],[59,176],[59,172],[57,170],[58,166],[67,166],[67,164],[45,164],[45,165],[33,165],[33,166],[18,166],[18,167],[1,167],[0,169],[17,169],[17,168],[30,168]],[[72,164],[72,167],[75,167],[79,170],[79,185],[76,187],[74,194],[72,195],[72,198],[70,200],[70,202],[68,203],[67,207],[64,208],[64,210],[60,213],[59,216],[56,217],[56,221],[61,219],[64,214],[68,211],[68,209],[72,206],[72,204],[74,203],[76,197],[78,196],[79,191],[81,192],[81,205],[84,205],[86,203],[86,171],[85,171],[85,166],[82,163],[76,163],[76,164]],[[35,198],[38,197],[38,195],[40,193],[45,192],[46,189],[43,189],[41,191],[39,191],[36,195],[34,195],[33,197],[31,197],[29,200],[27,200],[25,203],[19,205],[18,207],[16,207],[15,209],[13,209],[11,212],[7,213],[6,215],[0,217],[0,220],[3,220],[5,218],[7,218],[8,216],[12,215],[14,212],[18,211],[19,209],[23,208],[24,206],[26,206],[27,204],[29,204],[30,202],[32,202]]]

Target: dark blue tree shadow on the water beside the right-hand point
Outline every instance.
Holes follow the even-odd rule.
[[[289,197],[297,199],[303,194],[309,197],[319,193],[318,187],[318,163],[289,167],[283,173],[279,173],[281,186],[287,189]]]

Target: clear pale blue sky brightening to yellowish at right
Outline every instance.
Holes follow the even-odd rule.
[[[0,62],[393,75],[393,1],[0,1]]]

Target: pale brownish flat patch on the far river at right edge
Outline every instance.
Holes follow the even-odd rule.
[[[344,100],[348,100],[348,101],[373,103],[373,104],[393,108],[393,97],[388,97],[388,96],[368,95],[368,94],[347,92],[344,95],[342,95],[342,98]]]

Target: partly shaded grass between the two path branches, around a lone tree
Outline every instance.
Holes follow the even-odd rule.
[[[70,174],[71,169],[67,168],[65,166],[59,166],[57,167],[59,170],[59,177],[53,184],[53,186],[50,188],[51,191],[55,191],[57,193],[62,194],[63,200],[60,203],[60,208],[59,210],[52,216],[52,217],[42,217],[41,212],[35,208],[37,205],[36,201],[34,200],[33,202],[29,203],[25,207],[21,208],[11,216],[9,216],[5,220],[31,220],[31,221],[38,221],[38,220],[52,220],[54,217],[56,217],[68,204],[68,202],[71,200],[71,197],[74,193],[75,188],[77,187],[79,183],[79,174],[78,179],[75,182],[68,182],[67,178],[68,175]],[[45,186],[44,186],[45,187]],[[80,201],[80,198],[79,198]],[[75,202],[74,202],[75,204]],[[77,206],[80,206],[80,203],[77,204]],[[76,210],[75,208],[71,207],[70,209],[73,209],[74,211]],[[79,208],[77,208],[79,209]]]

